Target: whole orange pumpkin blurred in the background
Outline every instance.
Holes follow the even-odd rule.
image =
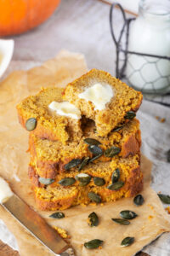
[[[54,13],[60,0],[0,0],[0,36],[20,34]]]

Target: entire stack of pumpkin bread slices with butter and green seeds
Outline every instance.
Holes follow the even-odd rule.
[[[37,207],[63,210],[141,191],[141,102],[140,92],[97,69],[20,102]]]

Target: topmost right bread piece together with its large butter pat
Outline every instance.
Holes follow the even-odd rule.
[[[93,119],[98,135],[104,137],[135,116],[143,96],[110,73],[92,69],[68,84],[63,98]]]

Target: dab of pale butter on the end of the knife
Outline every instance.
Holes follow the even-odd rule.
[[[8,198],[14,195],[11,191],[8,183],[0,177],[0,203],[2,204],[5,201],[8,201]]]

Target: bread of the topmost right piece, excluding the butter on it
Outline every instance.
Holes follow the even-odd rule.
[[[94,110],[92,102],[87,102],[79,98],[79,94],[96,83],[109,84],[114,92],[111,101],[108,102],[103,110]],[[142,94],[133,90],[121,80],[111,76],[110,73],[92,69],[90,72],[82,75],[68,84],[65,88],[63,98],[76,105],[81,110],[82,115],[88,119],[93,119],[96,125],[98,135],[106,136],[117,125],[127,122],[125,115],[129,111],[136,112],[142,102]]]

